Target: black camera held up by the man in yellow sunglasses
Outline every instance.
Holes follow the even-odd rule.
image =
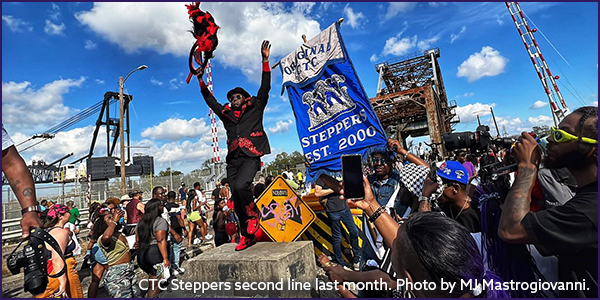
[[[444,146],[449,151],[469,149],[472,153],[485,151],[492,145],[510,148],[514,142],[510,138],[493,138],[490,134],[490,128],[486,125],[477,126],[475,132],[446,133],[442,139]]]

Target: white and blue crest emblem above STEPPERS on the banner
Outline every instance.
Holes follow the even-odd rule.
[[[315,131],[356,107],[348,95],[348,87],[342,86],[345,81],[343,75],[333,74],[330,78],[317,81],[312,91],[302,94],[302,103],[308,106],[308,131]]]

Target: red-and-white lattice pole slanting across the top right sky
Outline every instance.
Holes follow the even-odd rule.
[[[525,14],[521,10],[519,2],[505,3],[513,22],[515,23],[515,26],[517,27],[517,31],[521,36],[521,40],[525,45],[525,49],[527,49],[527,53],[531,58],[531,62],[535,67],[538,77],[542,82],[546,96],[548,96],[548,102],[550,103],[550,108],[552,109],[554,126],[558,127],[558,123],[567,114],[569,114],[569,107],[567,106],[567,103],[565,103],[565,99],[556,85],[556,80],[558,80],[560,77],[558,75],[552,76],[552,72],[550,72],[550,68],[544,59],[544,55],[542,55],[542,50],[533,36],[537,29],[531,29],[531,27],[529,27],[529,23],[525,19]],[[559,103],[560,106],[557,103]]]

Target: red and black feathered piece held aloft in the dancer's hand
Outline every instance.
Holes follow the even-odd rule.
[[[196,42],[190,50],[188,60],[190,73],[186,82],[190,83],[192,75],[198,75],[199,70],[204,70],[208,64],[208,60],[213,57],[213,52],[219,44],[219,40],[217,39],[217,30],[219,30],[219,26],[215,24],[215,19],[208,11],[203,12],[200,10],[200,2],[188,4],[186,7],[188,9],[190,21],[194,25],[190,32],[196,39]],[[202,55],[204,55],[204,59],[202,59]],[[200,65],[198,69],[194,68],[192,57],[196,63]]]

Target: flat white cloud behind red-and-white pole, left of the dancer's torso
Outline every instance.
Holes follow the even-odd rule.
[[[222,127],[221,122],[217,122],[217,131],[225,137],[225,128]],[[201,138],[203,142],[211,142],[210,124],[204,118],[190,120],[169,118],[158,125],[142,130],[141,136],[168,141]]]

